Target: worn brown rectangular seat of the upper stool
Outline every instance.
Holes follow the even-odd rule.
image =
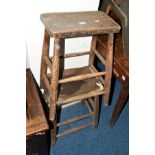
[[[117,33],[121,29],[102,11],[44,13],[40,19],[49,35],[55,38]]]

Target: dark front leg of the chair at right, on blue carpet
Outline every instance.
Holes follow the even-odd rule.
[[[128,86],[122,86],[118,101],[115,105],[114,111],[112,113],[112,117],[110,119],[110,126],[112,127],[115,122],[117,121],[123,107],[125,104],[125,101],[127,100],[129,96],[129,87]]]

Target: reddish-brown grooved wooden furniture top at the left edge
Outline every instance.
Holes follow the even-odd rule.
[[[30,69],[26,70],[26,136],[44,132],[48,129],[47,120]]]

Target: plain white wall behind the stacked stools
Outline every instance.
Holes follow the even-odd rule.
[[[94,11],[98,9],[99,0],[33,0],[27,10],[26,28],[26,67],[30,67],[39,83],[40,60],[44,35],[44,26],[40,14],[46,12]],[[65,52],[85,51],[90,49],[91,37],[66,39]],[[53,53],[53,39],[50,44],[50,55]],[[84,66],[88,56],[69,58],[65,68]]]

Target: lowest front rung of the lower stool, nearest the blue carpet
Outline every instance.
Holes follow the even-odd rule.
[[[64,132],[61,132],[61,133],[57,134],[56,137],[65,136],[65,135],[71,134],[73,132],[80,131],[80,130],[82,130],[84,128],[87,128],[87,127],[89,127],[91,125],[94,125],[94,122],[89,123],[89,124],[84,124],[83,126],[79,126],[79,127],[75,127],[75,128],[66,130]]]

